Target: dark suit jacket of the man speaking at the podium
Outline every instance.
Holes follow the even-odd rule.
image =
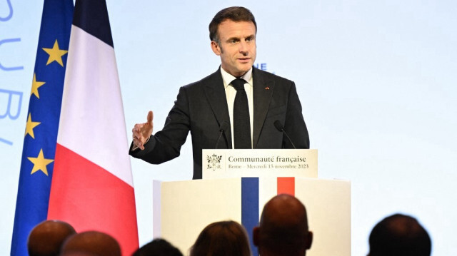
[[[253,68],[253,148],[293,148],[274,126],[281,122],[296,148],[309,148],[308,130],[301,113],[295,83]],[[189,131],[194,156],[194,179],[201,179],[201,150],[215,148],[221,123],[230,123],[221,71],[179,89],[164,129],[151,135],[144,150],[129,154],[159,164],[179,156]],[[218,148],[232,148],[230,126]]]

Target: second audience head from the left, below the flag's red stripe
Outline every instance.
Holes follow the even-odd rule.
[[[62,247],[62,254],[81,253],[94,256],[121,256],[121,247],[111,235],[86,231],[69,237]]]

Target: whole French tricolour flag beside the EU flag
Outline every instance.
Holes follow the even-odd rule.
[[[109,16],[104,0],[76,0],[48,219],[139,247],[133,178]]]

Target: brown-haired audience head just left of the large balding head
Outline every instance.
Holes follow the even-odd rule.
[[[234,221],[214,222],[201,231],[190,256],[250,256],[248,235]]]

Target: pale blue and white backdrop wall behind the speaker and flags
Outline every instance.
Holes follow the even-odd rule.
[[[0,0],[1,255],[11,246],[43,6],[9,1]],[[233,5],[256,16],[256,65],[296,82],[319,176],[352,181],[353,255],[366,255],[373,225],[397,212],[423,223],[433,255],[457,255],[457,2],[108,1],[129,136],[149,110],[161,129],[179,87],[216,71],[207,27]],[[1,90],[22,93],[21,104],[16,96],[9,106]],[[8,106],[18,118],[4,116]],[[144,244],[152,180],[190,179],[191,145],[162,165],[131,162]]]

